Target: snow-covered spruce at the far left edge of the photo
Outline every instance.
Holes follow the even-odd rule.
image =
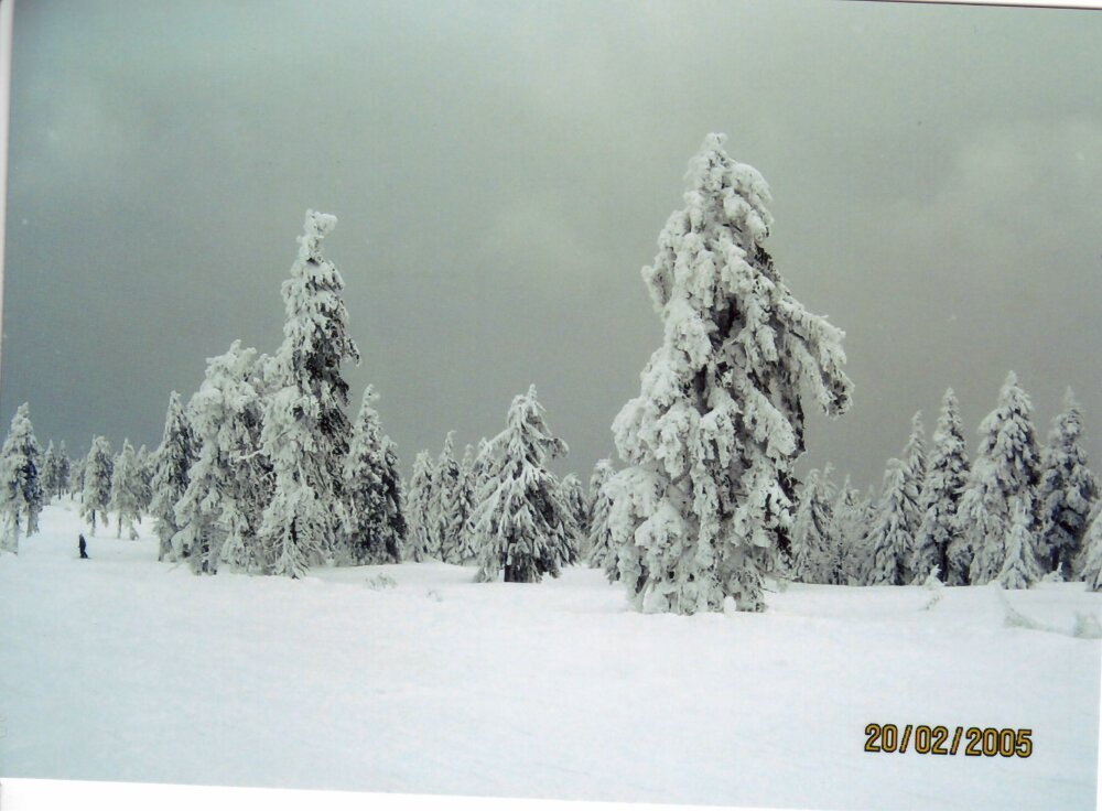
[[[42,450],[31,424],[31,407],[23,403],[15,410],[11,426],[0,448],[0,548],[19,552],[19,533],[34,534],[39,529],[39,512],[43,495],[41,482]]]

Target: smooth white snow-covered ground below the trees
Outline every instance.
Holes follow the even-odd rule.
[[[0,775],[832,809],[1093,809],[1082,584],[792,586],[627,609],[599,572],[437,563],[196,577],[64,502],[0,559]],[[85,531],[91,560],[78,560]],[[383,577],[386,575],[386,577]],[[393,585],[387,584],[387,578]],[[871,754],[869,723],[1033,729],[1031,757]]]

